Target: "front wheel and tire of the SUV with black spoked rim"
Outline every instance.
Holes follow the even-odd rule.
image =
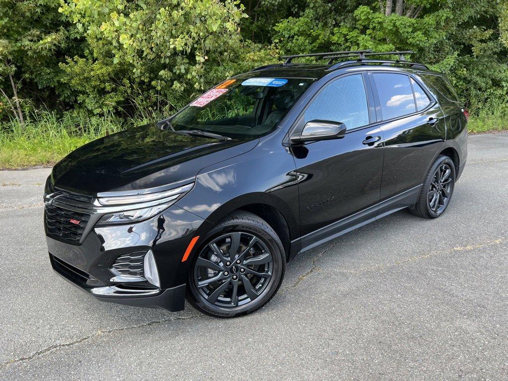
[[[284,272],[285,252],[275,231],[255,214],[233,212],[200,247],[188,274],[187,300],[211,316],[246,315],[270,301]]]

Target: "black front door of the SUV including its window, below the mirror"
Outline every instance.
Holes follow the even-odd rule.
[[[291,148],[301,179],[302,249],[375,219],[384,139],[379,128],[369,126],[375,122],[373,104],[364,74],[342,76],[317,93],[297,122],[297,128],[316,119],[342,122],[347,128],[343,138]]]

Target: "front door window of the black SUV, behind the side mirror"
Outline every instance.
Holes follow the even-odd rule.
[[[328,84],[307,108],[304,119],[342,122],[347,129],[369,124],[363,76],[350,75]]]

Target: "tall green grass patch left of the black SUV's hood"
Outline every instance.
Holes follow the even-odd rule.
[[[0,168],[49,166],[91,140],[134,124],[114,116],[33,112],[23,129],[15,120],[0,123]]]

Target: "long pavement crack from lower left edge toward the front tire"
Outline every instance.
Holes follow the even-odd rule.
[[[82,343],[84,341],[88,341],[88,340],[91,340],[93,338],[100,337],[102,335],[112,334],[112,333],[116,333],[116,332],[136,329],[136,328],[150,327],[150,326],[154,326],[154,325],[157,325],[157,324],[162,324],[162,323],[165,323],[165,322],[171,322],[171,321],[177,321],[177,320],[189,320],[189,319],[194,319],[195,317],[199,317],[199,316],[204,316],[204,315],[202,313],[200,313],[200,314],[197,314],[197,315],[182,316],[182,317],[168,316],[165,319],[155,320],[155,321],[147,322],[147,323],[143,323],[143,324],[138,324],[136,326],[119,327],[119,328],[113,328],[113,329],[109,329],[109,330],[105,330],[105,331],[99,330],[99,331],[96,331],[96,332],[94,332],[94,333],[92,333],[90,335],[81,337],[81,338],[73,340],[73,341],[50,345],[50,346],[48,346],[46,348],[43,348],[42,350],[34,352],[33,354],[31,354],[29,356],[18,357],[16,359],[12,359],[12,360],[6,361],[6,362],[0,364],[0,370],[7,368],[9,365],[12,365],[12,364],[15,364],[15,363],[18,363],[18,362],[22,362],[22,361],[33,360],[33,359],[35,359],[37,357],[40,357],[40,356],[42,356],[42,355],[44,355],[44,354],[46,354],[48,352],[51,352],[51,351],[54,351],[54,350],[58,350],[60,348],[66,348],[66,347],[69,347],[69,346],[73,346],[73,345]]]

